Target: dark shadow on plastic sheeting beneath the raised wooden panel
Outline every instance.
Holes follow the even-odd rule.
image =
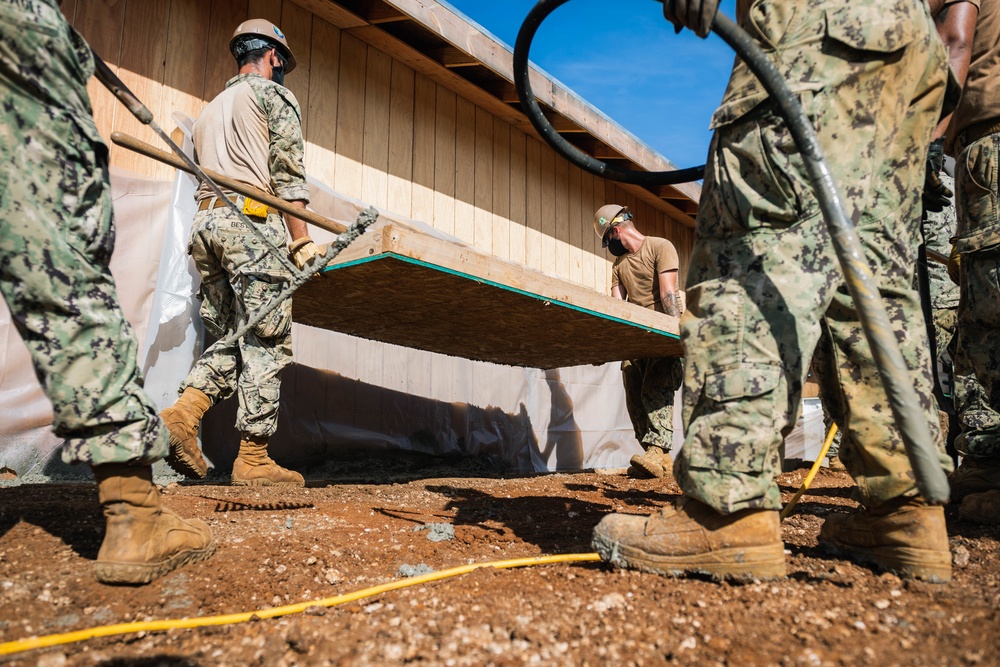
[[[531,473],[534,461],[550,456],[555,469],[579,469],[583,445],[572,401],[558,371],[546,378],[552,410],[543,451],[524,404],[512,414],[292,364],[282,378],[278,430],[269,453],[307,480],[419,479],[428,467],[441,465],[455,468],[449,476],[502,476]],[[239,450],[236,410],[231,397],[214,406],[202,424],[204,451],[216,466],[213,476],[228,476]],[[378,460],[373,464],[372,458]]]

